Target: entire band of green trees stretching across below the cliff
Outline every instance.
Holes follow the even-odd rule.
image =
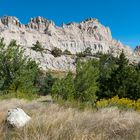
[[[41,44],[33,44],[40,50]],[[42,50],[42,49],[41,49]],[[90,50],[85,51],[90,54]],[[67,51],[67,53],[69,53]],[[140,64],[128,61],[123,51],[118,57],[99,55],[100,59],[76,62],[76,74],[54,78],[41,72],[39,65],[24,55],[24,50],[11,41],[0,40],[0,94],[50,94],[57,100],[95,103],[114,96],[140,98]]]

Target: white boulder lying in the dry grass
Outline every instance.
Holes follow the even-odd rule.
[[[20,108],[8,110],[6,122],[12,127],[23,127],[30,120],[31,118]]]

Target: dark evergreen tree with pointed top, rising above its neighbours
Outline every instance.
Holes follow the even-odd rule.
[[[119,97],[125,97],[127,86],[126,79],[129,77],[129,65],[128,59],[125,57],[124,52],[120,54],[116,61],[117,69],[113,70],[111,74],[110,81],[110,91],[113,95],[118,95]]]

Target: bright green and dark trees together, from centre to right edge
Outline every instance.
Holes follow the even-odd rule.
[[[78,61],[76,75],[69,73],[58,80],[53,85],[52,95],[81,102],[114,96],[137,100],[140,98],[140,65],[130,63],[123,51],[116,58],[104,54],[99,60]]]

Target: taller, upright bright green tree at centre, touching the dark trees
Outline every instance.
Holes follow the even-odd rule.
[[[81,102],[96,101],[99,76],[98,61],[78,62],[75,77],[75,99]]]

